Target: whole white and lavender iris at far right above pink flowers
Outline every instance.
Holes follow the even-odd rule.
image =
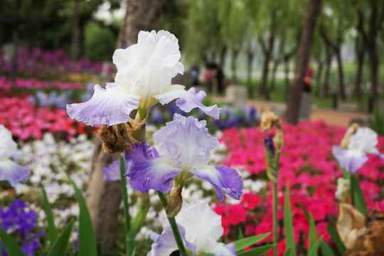
[[[367,154],[380,155],[376,146],[378,134],[368,127],[358,127],[356,133],[349,137],[347,149],[341,146],[333,146],[332,153],[340,164],[351,174],[354,174],[368,161]]]

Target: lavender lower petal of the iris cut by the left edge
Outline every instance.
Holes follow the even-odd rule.
[[[0,161],[0,181],[9,181],[11,186],[28,181],[31,171],[26,166],[16,164],[9,159]]]

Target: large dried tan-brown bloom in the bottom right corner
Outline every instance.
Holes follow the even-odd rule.
[[[346,255],[384,255],[384,213],[368,212],[364,218],[351,205],[341,203],[337,228]]]

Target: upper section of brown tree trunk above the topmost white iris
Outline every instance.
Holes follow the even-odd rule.
[[[161,0],[128,0],[124,22],[119,31],[117,48],[137,43],[139,31],[156,29]]]

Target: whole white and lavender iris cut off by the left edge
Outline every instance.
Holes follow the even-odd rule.
[[[0,181],[8,181],[11,186],[26,182],[30,174],[28,167],[20,166],[10,159],[17,151],[11,132],[0,124]]]

